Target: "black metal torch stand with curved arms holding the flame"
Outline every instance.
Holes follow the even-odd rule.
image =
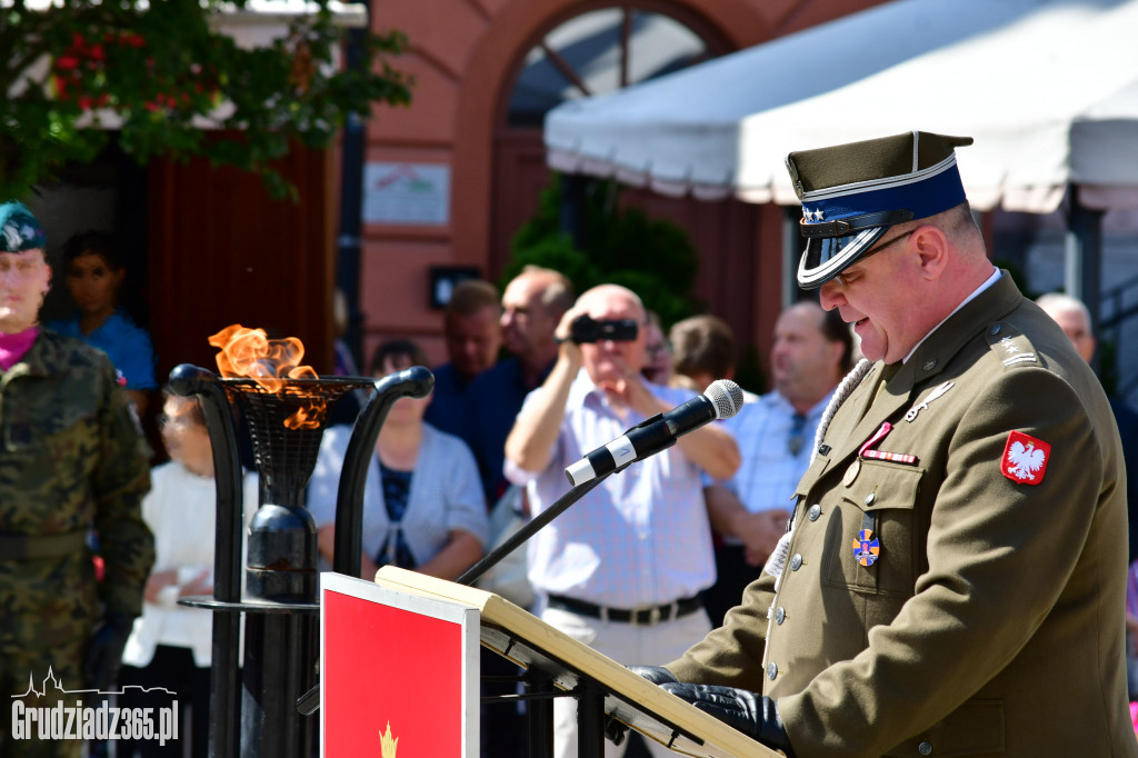
[[[415,366],[378,382],[345,378],[286,380],[283,389],[267,393],[253,380],[220,379],[211,371],[183,364],[171,372],[170,385],[178,395],[201,398],[213,444],[217,488],[214,594],[179,601],[214,611],[209,756],[307,758],[315,744],[313,720],[297,712],[295,703],[319,681],[320,604],[316,525],[304,508],[304,493],[315,465],[323,423],[314,429],[288,429],[284,419],[308,404],[313,394],[330,404],[349,390],[373,388],[353,429],[340,481],[341,491],[348,481],[351,489],[358,487],[362,493],[374,439],[390,405],[404,395],[426,396],[434,377]],[[241,464],[232,402],[239,404],[248,423],[261,478],[259,506],[249,526],[248,567],[244,571]],[[357,436],[370,436],[370,442],[361,439],[362,444],[356,444]],[[362,499],[345,514],[356,525],[356,545],[361,508]],[[340,510],[338,506],[338,532]],[[354,575],[358,575],[358,565],[356,552]],[[240,613],[246,616],[244,673],[238,667]]]

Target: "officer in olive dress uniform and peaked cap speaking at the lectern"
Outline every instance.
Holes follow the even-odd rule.
[[[868,361],[742,605],[637,669],[786,755],[1138,756],[1119,434],[1070,340],[989,262],[956,167],[971,142],[786,162],[799,285]]]

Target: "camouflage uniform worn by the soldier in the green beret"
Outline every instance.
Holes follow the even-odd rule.
[[[140,512],[150,487],[146,443],[107,356],[48,330],[0,372],[0,692],[25,692],[31,675],[39,687],[49,666],[63,689],[81,690],[86,641],[102,616],[141,612],[154,563]],[[106,566],[98,586],[84,546],[92,527]],[[79,747],[0,734],[5,756]]]

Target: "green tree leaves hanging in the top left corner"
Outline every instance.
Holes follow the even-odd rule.
[[[399,32],[348,32],[358,68],[337,71],[344,30],[321,1],[271,44],[247,49],[217,31],[217,0],[66,0],[0,9],[0,197],[23,196],[67,162],[92,159],[118,130],[140,163],[205,156],[291,188],[270,166],[291,140],[329,146],[349,113],[406,105],[412,82],[388,61]],[[244,6],[242,2],[236,3]],[[233,133],[204,139],[203,126]]]

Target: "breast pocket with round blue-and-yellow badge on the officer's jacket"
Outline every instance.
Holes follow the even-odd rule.
[[[917,567],[915,504],[921,469],[861,461],[842,487],[826,532],[825,582],[859,593],[908,598]]]

